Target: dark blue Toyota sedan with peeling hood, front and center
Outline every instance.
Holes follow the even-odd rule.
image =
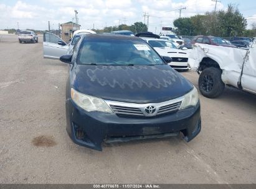
[[[76,144],[102,150],[103,142],[179,132],[191,141],[201,131],[196,87],[169,67],[171,58],[160,57],[144,40],[84,34],[73,49],[60,60],[70,65],[67,132]]]

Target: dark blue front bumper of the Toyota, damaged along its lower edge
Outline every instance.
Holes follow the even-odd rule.
[[[87,112],[71,99],[66,101],[67,132],[75,144],[102,150],[103,142],[121,142],[176,136],[189,142],[201,131],[200,103],[176,113],[154,117],[123,117]]]

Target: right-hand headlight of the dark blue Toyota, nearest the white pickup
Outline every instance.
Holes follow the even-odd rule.
[[[194,87],[189,93],[184,95],[184,99],[179,109],[184,109],[189,106],[196,106],[196,104],[198,103],[198,100],[199,100],[198,93],[197,93],[196,87]]]

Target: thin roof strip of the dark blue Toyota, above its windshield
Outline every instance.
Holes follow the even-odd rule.
[[[82,34],[85,39],[116,39],[116,40],[141,40],[139,37],[131,35],[113,35],[113,34]]]

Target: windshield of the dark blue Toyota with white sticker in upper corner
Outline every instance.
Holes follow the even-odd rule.
[[[77,58],[83,65],[164,65],[142,40],[85,39]]]

